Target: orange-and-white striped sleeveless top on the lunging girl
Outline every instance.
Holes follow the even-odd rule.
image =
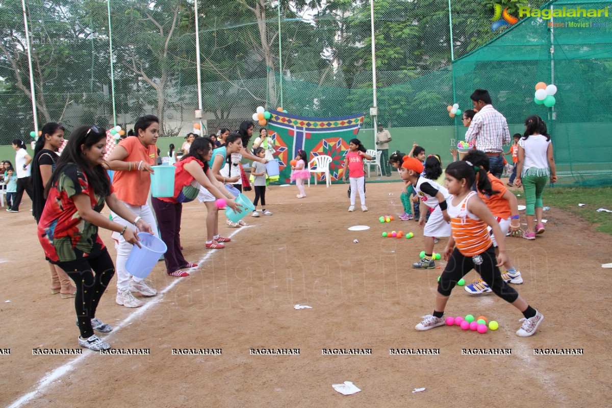
[[[468,210],[468,201],[474,195],[476,191],[470,191],[457,206],[453,206],[452,200],[449,200],[447,209],[455,245],[463,256],[482,254],[493,245],[487,223]]]

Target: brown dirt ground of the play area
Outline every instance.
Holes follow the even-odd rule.
[[[545,316],[534,336],[515,335],[522,317],[515,308],[461,287],[450,297],[447,316],[483,315],[498,321],[499,330],[417,332],[420,317],[433,311],[441,270],[411,269],[423,249],[417,223],[378,221],[402,212],[401,185],[367,184],[370,211],[353,213],[347,212],[346,188],[312,185],[307,198],[297,199],[293,185],[272,187],[266,198],[274,215],[249,216],[250,226],[239,229],[228,228],[222,215],[220,231],[232,234],[232,242],[216,251],[204,248],[204,206],[185,205],[184,254],[200,264],[192,276],[167,276],[159,262],[151,278],[160,294],[139,309],[116,305],[113,278],[97,313],[115,327],[100,335],[114,349],[146,348],[149,355],[32,355],[38,347],[78,348],[73,300],[48,291],[27,198],[20,213],[2,210],[0,349],[10,354],[0,354],[0,405],[612,406],[612,295],[608,270],[600,265],[612,262],[612,237],[551,209],[537,240],[507,239],[525,281],[515,288]],[[371,228],[348,230],[358,224]],[[392,229],[414,238],[381,237]],[[101,235],[114,258],[110,233]],[[435,250],[445,244],[442,239]],[[443,261],[438,265],[444,268]],[[472,271],[466,280],[474,277]],[[312,309],[295,310],[297,304]],[[300,354],[250,354],[261,348]],[[545,348],[584,354],[534,355]],[[222,354],[173,355],[172,349]],[[322,349],[371,349],[371,355],[322,355]],[[390,355],[390,349],[439,349],[439,355]],[[512,354],[462,355],[462,349]],[[343,396],[332,388],[344,381],[362,391]],[[426,390],[412,393],[421,387]]]

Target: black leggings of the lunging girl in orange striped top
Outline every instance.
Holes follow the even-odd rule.
[[[444,296],[449,296],[450,291],[457,282],[463,278],[469,271],[476,269],[480,273],[482,280],[485,281],[494,294],[506,300],[508,303],[513,303],[518,299],[518,292],[510,287],[501,278],[499,268],[495,265],[495,250],[491,245],[486,251],[476,256],[463,256],[457,248],[450,254],[449,263],[446,264],[446,269],[440,276],[438,282],[438,293]]]

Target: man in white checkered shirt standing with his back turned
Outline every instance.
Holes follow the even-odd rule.
[[[486,89],[476,89],[469,97],[477,112],[465,134],[465,141],[476,144],[489,157],[490,172],[501,179],[504,172],[504,144],[510,143],[510,131],[506,117],[491,105]]]

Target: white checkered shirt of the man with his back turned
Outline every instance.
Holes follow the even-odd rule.
[[[510,143],[508,122],[493,105],[485,105],[474,115],[468,132],[465,133],[465,141],[474,142],[476,149],[485,153],[503,153],[502,146]]]

